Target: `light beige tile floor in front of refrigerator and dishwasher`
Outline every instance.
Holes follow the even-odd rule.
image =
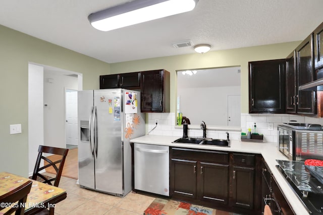
[[[80,188],[75,179],[62,177],[59,187],[67,190],[67,198],[56,204],[55,214],[138,215],[155,197],[130,192],[123,198]]]

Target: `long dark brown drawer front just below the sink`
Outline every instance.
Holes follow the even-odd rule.
[[[172,158],[225,164],[229,163],[229,153],[227,152],[193,150],[185,148],[172,148]]]

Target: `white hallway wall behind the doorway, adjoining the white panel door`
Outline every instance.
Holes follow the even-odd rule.
[[[43,80],[44,145],[66,148],[65,88],[78,90],[78,79],[46,70]]]

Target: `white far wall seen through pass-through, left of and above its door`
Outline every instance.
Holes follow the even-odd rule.
[[[206,124],[228,125],[228,95],[240,95],[240,86],[181,88],[177,95],[180,111],[191,124],[198,125],[203,120]]]

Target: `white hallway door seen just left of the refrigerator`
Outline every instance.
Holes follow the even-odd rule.
[[[77,140],[77,91],[65,90],[66,145],[78,145]]]

